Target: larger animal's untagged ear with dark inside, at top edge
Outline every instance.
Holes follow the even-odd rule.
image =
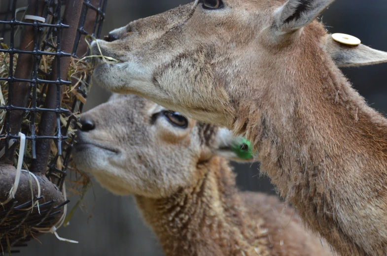
[[[334,0],[287,0],[275,12],[275,27],[280,32],[293,32],[312,21]]]

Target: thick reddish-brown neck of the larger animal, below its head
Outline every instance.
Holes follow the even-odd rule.
[[[326,54],[305,65],[309,73],[278,81],[281,96],[243,102],[234,131],[254,143],[281,195],[342,255],[386,255],[387,120]]]

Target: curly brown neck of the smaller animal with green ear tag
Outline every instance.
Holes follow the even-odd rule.
[[[256,223],[251,220],[245,223],[246,210],[228,161],[214,158],[198,168],[208,171],[203,172],[205,176],[194,188],[182,188],[162,199],[136,196],[138,207],[159,238],[164,253],[167,256],[242,256],[260,250],[259,241],[255,242],[256,248],[250,246]]]

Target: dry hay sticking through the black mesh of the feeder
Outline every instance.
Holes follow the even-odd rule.
[[[2,48],[7,49],[7,46],[5,44],[1,44]],[[50,48],[47,50],[48,52],[52,52],[53,50]],[[51,64],[54,60],[55,56],[52,55],[43,55],[39,64],[39,68],[43,70],[45,73],[49,74],[51,71]],[[17,63],[18,55],[13,55],[13,73],[15,72],[16,63]],[[10,58],[8,54],[0,53],[0,77],[1,78],[7,78],[9,75],[10,69]],[[91,76],[93,72],[93,67],[90,62],[87,61],[86,58],[83,58],[81,60],[71,57],[70,62],[70,69],[68,73],[68,80],[69,81],[76,81],[74,85],[68,85],[66,86],[65,93],[63,95],[63,100],[61,102],[61,107],[64,109],[71,110],[71,107],[74,103],[74,101],[79,100],[82,103],[86,103],[86,99],[78,92],[78,87],[82,85],[83,88],[90,88],[91,85],[85,84],[86,77]],[[39,73],[38,74],[39,79],[43,80],[49,80],[48,77],[45,75]],[[6,106],[8,104],[8,83],[6,81],[0,81],[0,106]],[[42,102],[45,100],[45,91],[47,87],[44,87],[44,84],[37,84],[36,86],[36,98],[42,97]],[[31,90],[32,91],[32,90]],[[31,108],[33,107],[32,102],[32,92],[31,96],[28,99],[27,107]],[[37,107],[43,107],[42,105]],[[31,134],[31,115],[33,115],[32,112],[28,112],[24,115],[22,120],[22,126],[21,126],[21,132],[23,132],[26,135]],[[77,119],[80,117],[80,112],[77,111],[75,113],[71,113],[72,116],[76,117]],[[38,133],[39,129],[39,122],[40,122],[41,113],[36,112],[35,114],[35,134]],[[67,126],[69,122],[70,116],[66,116],[62,114],[60,116],[60,121],[63,126]],[[0,111],[0,134],[4,133],[6,125],[6,111],[1,110]],[[80,124],[76,124],[77,126],[80,126]],[[70,143],[71,139],[75,136],[77,127],[71,126],[69,127],[67,136],[69,137],[68,142]],[[32,142],[28,140],[26,145],[26,154],[25,158],[23,160],[23,168],[26,170],[29,170],[29,166],[32,161]],[[17,148],[18,150],[18,148]],[[52,142],[51,145],[51,152],[49,156],[49,163],[52,162],[56,155],[58,153],[58,149],[54,143]],[[58,160],[56,161],[56,167],[60,170],[62,170],[64,163],[63,157],[59,156]],[[17,154],[15,154],[14,157],[14,163],[17,163]],[[71,192],[69,196],[73,195],[79,195],[79,197],[82,199],[85,193],[88,191],[89,188],[92,187],[92,183],[90,180],[90,176],[78,169],[74,166],[73,162],[70,161],[70,164],[68,166],[68,170],[70,171],[70,175],[68,175],[68,182],[70,182],[70,186],[68,190]],[[47,168],[48,171],[48,168]],[[79,205],[79,203],[77,203]],[[74,209],[70,211],[73,212]]]

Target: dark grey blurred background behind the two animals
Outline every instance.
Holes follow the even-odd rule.
[[[3,0],[5,2],[6,0]],[[131,20],[154,15],[189,0],[109,0],[103,34],[122,27]],[[329,32],[352,34],[362,43],[387,51],[386,0],[336,0],[323,13],[322,20]],[[377,110],[387,112],[387,64],[344,69],[344,73]],[[105,102],[109,93],[93,85],[86,110]],[[260,177],[258,164],[235,165],[238,186],[241,190],[262,191],[275,194],[270,181]],[[70,198],[70,208],[78,198]],[[90,217],[91,216],[91,217]],[[118,197],[94,182],[70,221],[59,235],[79,241],[79,244],[60,242],[52,234],[39,237],[41,244],[32,241],[22,249],[21,256],[162,256],[157,241],[143,224],[131,197]]]

